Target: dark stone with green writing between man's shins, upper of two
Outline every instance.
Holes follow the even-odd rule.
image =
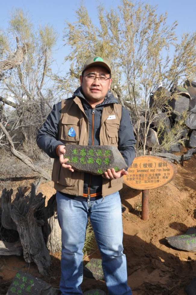
[[[84,266],[84,276],[94,278],[96,280],[104,280],[104,274],[102,269],[102,260],[92,258]]]

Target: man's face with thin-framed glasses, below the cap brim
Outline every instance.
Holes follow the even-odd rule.
[[[102,66],[92,66],[84,71],[84,76],[90,75],[95,77],[106,77],[109,78],[108,71]],[[107,79],[105,83],[95,79],[94,81],[87,81],[86,77],[80,76],[80,82],[82,86],[82,91],[85,98],[88,100],[91,106],[95,106],[104,101],[112,79]]]

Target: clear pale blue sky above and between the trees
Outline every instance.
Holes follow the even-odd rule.
[[[196,1],[195,0],[149,0],[141,1],[151,5],[157,5],[157,13],[168,12],[168,24],[172,24],[175,20],[178,22],[176,33],[181,36],[184,32],[193,32],[196,29]],[[0,0],[0,28],[7,28],[9,16],[13,8],[22,8],[29,12],[32,21],[37,24],[52,24],[58,31],[59,38],[56,46],[54,58],[56,65],[53,66],[55,71],[60,68],[61,72],[68,70],[68,64],[62,65],[63,59],[69,48],[63,47],[62,41],[65,20],[73,22],[75,19],[75,10],[80,5],[79,0],[62,1],[62,0]],[[96,7],[104,3],[103,1],[84,1],[89,15],[93,22],[96,20]],[[119,0],[107,0],[104,3],[105,8],[117,8],[120,4]]]

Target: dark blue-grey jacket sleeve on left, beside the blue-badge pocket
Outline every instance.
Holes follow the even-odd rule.
[[[54,105],[52,111],[48,115],[46,122],[41,126],[37,134],[37,145],[49,157],[57,158],[56,149],[59,145],[64,145],[58,140],[59,121],[61,116],[61,102]]]

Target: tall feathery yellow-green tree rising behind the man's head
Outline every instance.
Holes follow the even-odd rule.
[[[118,10],[105,11],[101,5],[97,10],[99,26],[93,24],[84,4],[76,11],[76,21],[67,22],[64,37],[71,50],[65,60],[71,66],[67,76],[56,78],[62,91],[70,95],[88,57],[109,58],[112,92],[130,110],[137,137],[136,151],[142,142],[145,154],[150,124],[157,117],[156,105],[149,109],[150,94],[160,83],[169,89],[176,81],[195,77],[196,33],[187,33],[177,41],[176,21],[168,25],[167,13],[157,15],[156,7],[145,3],[123,0]],[[158,97],[156,103],[157,100]],[[166,100],[159,96],[159,111],[165,104]],[[141,115],[145,118],[142,132]]]

